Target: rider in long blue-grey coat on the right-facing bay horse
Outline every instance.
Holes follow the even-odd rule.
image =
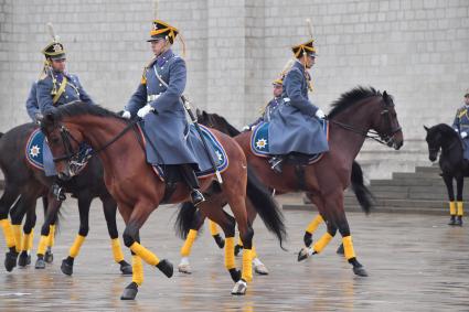
[[[269,123],[271,169],[280,173],[288,154],[312,155],[329,150],[320,119],[324,112],[308,98],[312,90],[308,71],[316,61],[313,40],[294,46],[295,62],[284,78],[284,104]]]

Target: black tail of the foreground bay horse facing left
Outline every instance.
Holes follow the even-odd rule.
[[[267,187],[259,181],[249,166],[247,166],[247,197],[259,214],[267,229],[274,233],[279,240],[280,248],[285,250],[281,245],[287,237],[284,215]]]

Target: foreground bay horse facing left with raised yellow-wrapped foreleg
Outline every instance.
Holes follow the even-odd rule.
[[[66,180],[74,175],[70,161],[77,155],[81,142],[88,143],[103,162],[104,181],[126,224],[124,243],[135,255],[132,282],[125,288],[120,297],[122,300],[134,300],[137,295],[143,278],[141,259],[157,267],[168,278],[172,277],[171,262],[167,259],[160,260],[143,247],[140,244],[139,230],[161,203],[174,204],[190,200],[190,190],[183,183],[177,183],[173,192],[164,196],[169,187],[154,168],[147,163],[146,139],[140,132],[141,128],[136,127],[137,122],[138,120],[126,120],[99,106],[83,103],[58,107],[41,119],[41,129],[47,138],[61,179]],[[222,172],[222,184],[215,182],[214,175],[200,179],[206,202],[199,207],[222,227],[226,237],[225,267],[235,281],[232,294],[244,294],[247,282],[252,280],[251,249],[254,236],[246,216],[247,163],[236,141],[216,130],[212,130],[212,133],[224,147],[230,161]],[[222,209],[226,204],[230,204],[234,218]],[[269,220],[273,219],[267,222]],[[284,228],[281,219],[277,218],[275,222],[276,225],[268,226],[270,229]],[[245,244],[241,277],[234,261],[235,223]],[[276,233],[280,246],[284,233],[285,230]]]

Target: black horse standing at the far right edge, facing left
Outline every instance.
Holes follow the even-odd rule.
[[[441,176],[448,190],[449,225],[462,225],[462,190],[465,176],[469,176],[469,161],[463,159],[463,147],[459,135],[448,125],[439,123],[431,128],[424,126],[427,131],[425,140],[428,144],[428,158],[436,161],[438,152]],[[456,202],[452,180],[456,180]]]

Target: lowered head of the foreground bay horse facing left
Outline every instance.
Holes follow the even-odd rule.
[[[66,128],[57,110],[44,114],[38,121],[54,158],[58,177],[64,181],[72,179],[77,172],[71,162],[78,158],[82,133],[77,129]]]

